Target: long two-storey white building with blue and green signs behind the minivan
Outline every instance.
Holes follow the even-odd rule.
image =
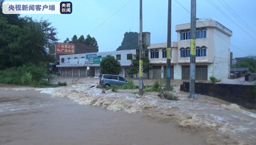
[[[72,54],[59,56],[59,73],[66,76],[94,76],[99,74],[100,59],[111,55],[120,62],[122,72],[120,76],[127,77],[127,71],[131,65],[131,59],[136,50],[120,50],[111,52],[96,52],[87,54]],[[87,72],[87,73],[86,73]]]

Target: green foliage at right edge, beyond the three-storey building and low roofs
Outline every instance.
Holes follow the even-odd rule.
[[[256,73],[256,60],[251,58],[242,59],[235,67],[249,67],[252,73]]]

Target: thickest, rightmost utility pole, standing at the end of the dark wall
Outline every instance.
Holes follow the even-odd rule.
[[[190,22],[190,86],[187,98],[197,99],[195,95],[195,30],[196,30],[196,0],[191,0]]]

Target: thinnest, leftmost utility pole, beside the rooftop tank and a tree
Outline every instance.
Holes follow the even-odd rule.
[[[139,95],[143,96],[142,0],[139,0]]]

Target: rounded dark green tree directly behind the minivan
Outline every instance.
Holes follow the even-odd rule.
[[[116,60],[115,57],[110,55],[108,55],[105,59],[101,61],[100,66],[101,66],[101,70],[99,71],[99,73],[101,74],[118,75],[122,71],[120,62]]]

